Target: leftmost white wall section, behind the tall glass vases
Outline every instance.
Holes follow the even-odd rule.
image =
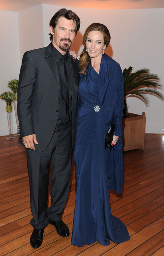
[[[17,12],[0,10],[0,94],[10,91],[8,81],[18,79],[20,69]],[[13,109],[13,133],[17,133]],[[0,136],[9,134],[5,104],[0,99]]]

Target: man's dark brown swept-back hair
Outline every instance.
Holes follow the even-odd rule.
[[[75,20],[76,22],[76,29],[75,29],[75,35],[77,34],[77,31],[79,30],[80,27],[80,19],[77,16],[77,14],[75,14],[73,11],[71,10],[67,10],[66,8],[62,8],[59,11],[57,11],[54,16],[51,18],[50,20],[50,27],[53,27],[53,31],[55,31],[55,27],[58,24],[58,19],[60,17],[64,17],[66,19],[72,19]],[[52,37],[53,35],[51,35],[51,33],[49,33],[50,35],[50,40],[52,41]]]

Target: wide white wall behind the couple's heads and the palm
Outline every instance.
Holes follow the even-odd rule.
[[[62,6],[43,4],[44,46],[50,40],[48,23],[54,13]],[[81,19],[81,28],[71,49],[81,49],[82,35],[93,22],[104,23],[111,35],[110,46],[106,53],[120,63],[122,70],[129,66],[133,71],[149,68],[159,75],[164,84],[164,8],[138,10],[98,10],[66,7],[74,11]],[[77,45],[78,44],[78,45]],[[160,90],[164,94],[163,90]],[[140,99],[128,98],[129,112],[146,114],[146,132],[164,133],[164,102],[154,96],[148,96],[147,108]]]

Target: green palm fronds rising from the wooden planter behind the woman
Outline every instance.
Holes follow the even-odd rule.
[[[161,94],[157,89],[163,85],[160,83],[160,78],[156,74],[149,73],[149,69],[143,68],[138,69],[132,73],[133,68],[129,67],[124,69],[124,116],[128,113],[128,106],[126,98],[137,97],[141,99],[146,106],[149,104],[149,98],[145,94],[151,94],[164,99],[164,95]]]

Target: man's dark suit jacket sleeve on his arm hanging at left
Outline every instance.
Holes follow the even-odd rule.
[[[25,52],[20,68],[18,83],[17,115],[20,125],[20,138],[34,134],[32,121],[32,95],[36,80],[36,69],[29,52]]]

